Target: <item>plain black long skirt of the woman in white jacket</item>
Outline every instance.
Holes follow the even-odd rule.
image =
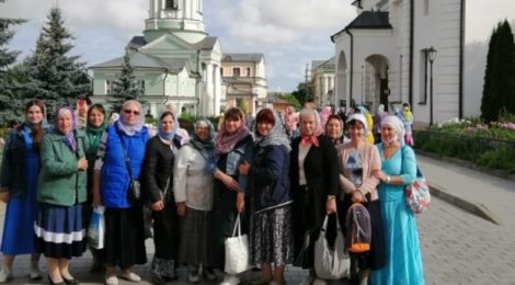
[[[198,210],[187,207],[186,216],[181,225],[181,248],[179,260],[183,264],[213,267],[213,249],[209,247],[209,210]]]

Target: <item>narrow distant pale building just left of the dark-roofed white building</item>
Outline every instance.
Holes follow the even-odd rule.
[[[311,82],[314,88],[313,99],[318,106],[333,104],[334,70],[334,57],[328,60],[311,61]]]

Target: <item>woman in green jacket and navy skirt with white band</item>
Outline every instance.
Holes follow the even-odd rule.
[[[59,107],[55,118],[55,129],[43,138],[41,149],[36,250],[47,259],[50,284],[78,284],[69,262],[85,250],[81,203],[87,198],[88,142],[71,107]]]

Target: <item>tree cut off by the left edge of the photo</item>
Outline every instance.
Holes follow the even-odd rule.
[[[16,61],[20,52],[10,52],[7,45],[14,36],[10,26],[24,22],[26,21],[22,19],[0,18],[0,122],[2,124],[23,117],[23,101],[18,96],[20,92],[16,92],[20,84],[15,77],[10,75],[9,69]]]

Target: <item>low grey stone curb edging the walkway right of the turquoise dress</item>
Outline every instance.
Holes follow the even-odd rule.
[[[431,183],[431,182],[430,182]],[[446,192],[445,190],[438,187],[438,186],[434,186],[434,185],[430,185],[430,191],[431,191],[431,194],[433,196],[436,196],[456,207],[459,207],[464,210],[467,210],[469,212],[470,214],[473,214],[478,217],[481,217],[485,220],[489,220],[495,225],[499,225],[501,226],[502,223],[501,223],[501,219],[499,219],[499,217],[496,217],[487,206],[484,206],[483,204],[479,204],[479,203],[473,203],[473,202],[470,202],[470,201],[467,201],[465,198],[461,198],[461,197],[458,197],[456,195],[453,195],[448,192]]]

